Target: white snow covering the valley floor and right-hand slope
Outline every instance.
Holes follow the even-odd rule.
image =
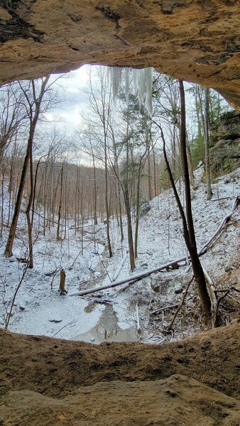
[[[219,178],[218,182],[212,185],[212,200],[207,201],[202,182],[203,168],[195,170],[197,190],[192,191],[192,210],[198,249],[214,234],[223,217],[231,212],[232,203],[240,194],[239,172],[240,169]],[[183,193],[181,197],[184,198]],[[209,251],[201,258],[204,268],[216,285],[221,285],[222,282],[235,286],[240,284],[239,224],[240,207],[236,209],[231,221]],[[87,230],[93,231],[91,228]],[[180,302],[182,291],[191,277],[191,271],[186,275],[186,266],[183,266],[183,263],[178,270],[153,274],[133,285],[125,284],[85,297],[71,297],[70,295],[78,290],[104,285],[110,283],[110,280],[121,280],[131,275],[126,254],[126,223],[123,244],[119,241],[116,222],[111,224],[114,251],[111,259],[107,258],[104,245],[104,224],[99,224],[96,230],[95,244],[92,234],[84,234],[86,248],[83,255],[81,236],[77,234],[75,237],[71,227],[67,239],[63,241],[56,241],[55,228],[45,237],[38,235],[34,244],[34,268],[26,271],[16,295],[9,326],[11,331],[93,343],[137,339],[158,343],[180,339],[200,331],[200,321],[194,320],[194,315],[197,318],[198,312],[194,287],[187,302],[194,315],[186,313],[187,320],[178,320],[175,332],[172,332],[170,337],[164,334],[163,329],[169,324],[174,310],[160,311],[155,320],[150,314],[154,307],[161,308],[168,304],[175,306]],[[17,260],[24,257],[26,251],[26,222],[23,214],[18,223],[18,238],[14,245],[13,258],[6,258],[3,254],[6,236],[5,228],[0,241],[0,327],[5,325],[6,312],[25,268],[24,264]],[[167,190],[151,201],[150,211],[140,219],[138,259],[133,274],[156,268],[182,256],[186,256],[182,222],[173,191]],[[65,296],[60,295],[58,291],[60,268],[64,268],[66,273],[68,293]],[[158,282],[159,291],[153,291],[154,283]],[[179,294],[175,292],[176,285],[180,285]],[[136,329],[136,310],[139,312],[141,334]]]

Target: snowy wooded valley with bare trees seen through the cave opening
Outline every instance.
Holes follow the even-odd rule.
[[[161,344],[237,317],[240,115],[146,72],[1,87],[2,328]]]

